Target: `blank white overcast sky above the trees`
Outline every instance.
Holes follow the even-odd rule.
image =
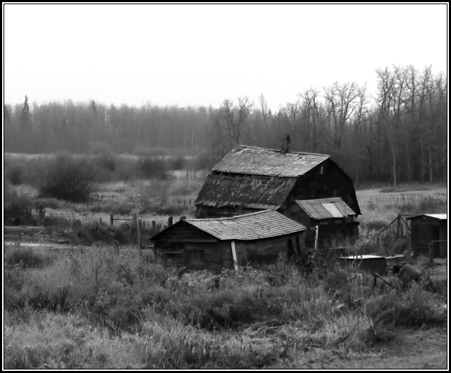
[[[219,106],[447,71],[447,4],[4,4],[4,102]]]

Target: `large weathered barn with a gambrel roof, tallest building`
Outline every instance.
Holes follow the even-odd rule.
[[[329,197],[361,214],[350,177],[330,156],[239,145],[213,167],[194,204],[206,218],[281,212],[296,200]]]

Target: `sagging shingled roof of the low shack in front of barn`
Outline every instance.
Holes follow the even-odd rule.
[[[274,210],[264,210],[228,218],[187,219],[179,221],[167,229],[183,223],[190,224],[219,240],[259,240],[306,230],[302,224]],[[154,240],[156,236],[152,237],[151,240]]]

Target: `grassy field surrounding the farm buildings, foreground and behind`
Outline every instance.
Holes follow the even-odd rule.
[[[333,263],[307,272],[280,258],[262,269],[179,277],[139,255],[131,238],[113,253],[102,236],[110,214],[137,213],[162,226],[170,215],[192,217],[205,175],[100,183],[92,200],[77,204],[37,197],[34,185],[11,186],[6,202],[25,201],[36,224],[68,244],[4,245],[4,367],[447,368],[447,259],[428,267],[420,257],[424,280],[408,288],[397,279],[393,288],[373,288],[371,275]],[[357,244],[397,214],[447,212],[447,190],[438,185],[358,190],[357,198]]]

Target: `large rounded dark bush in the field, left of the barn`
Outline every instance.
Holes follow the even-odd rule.
[[[87,161],[60,154],[44,170],[39,194],[58,200],[84,202],[97,189],[93,180],[94,169]]]

